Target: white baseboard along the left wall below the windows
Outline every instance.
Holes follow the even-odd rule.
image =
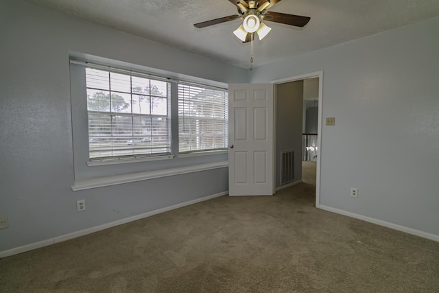
[[[147,213],[141,213],[140,215],[133,215],[132,217],[121,219],[121,220],[117,220],[115,222],[110,222],[110,223],[107,223],[107,224],[102,224],[102,225],[99,225],[99,226],[94,226],[94,227],[91,227],[91,228],[86,228],[84,230],[80,230],[80,231],[76,231],[76,232],[73,232],[73,233],[61,235],[61,236],[54,237],[54,238],[51,238],[51,239],[46,239],[46,240],[43,240],[43,241],[40,241],[40,242],[35,242],[35,243],[32,243],[32,244],[27,244],[27,245],[24,245],[24,246],[19,246],[19,247],[16,247],[16,248],[11,248],[9,250],[3,250],[3,251],[0,251],[0,258],[2,258],[2,257],[10,257],[11,255],[16,255],[16,254],[19,254],[19,253],[25,253],[26,251],[29,251],[29,250],[34,250],[34,249],[41,248],[41,247],[44,247],[44,246],[49,246],[51,244],[56,244],[56,243],[63,242],[63,241],[69,240],[69,239],[81,237],[81,236],[84,236],[84,235],[87,235],[87,234],[95,233],[97,231],[105,230],[107,228],[112,228],[112,227],[115,227],[115,226],[119,226],[121,224],[126,224],[128,222],[140,220],[140,219],[143,219],[143,218],[148,218],[148,217],[151,217],[152,215],[157,215],[158,213],[165,213],[166,211],[171,211],[173,209],[179,209],[180,207],[186,207],[186,206],[188,206],[190,204],[196,204],[198,202],[204,202],[206,200],[211,200],[212,198],[217,198],[219,196],[225,196],[227,194],[227,192],[228,191],[224,191],[224,192],[220,192],[219,194],[213,194],[211,196],[205,196],[204,198],[197,198],[195,200],[189,200],[188,202],[182,202],[180,204],[174,204],[174,205],[172,205],[170,207],[164,207],[163,209],[156,209],[154,211],[148,211]]]

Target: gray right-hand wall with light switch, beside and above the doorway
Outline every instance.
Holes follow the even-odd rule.
[[[323,71],[319,106],[335,126],[322,126],[320,205],[439,235],[438,27],[436,17],[252,70],[251,82]]]

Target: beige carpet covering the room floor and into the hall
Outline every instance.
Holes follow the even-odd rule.
[[[312,172],[0,259],[0,292],[439,292],[438,242],[316,209]]]

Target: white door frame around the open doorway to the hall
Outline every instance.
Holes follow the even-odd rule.
[[[272,80],[272,84],[274,84],[274,96],[273,96],[273,102],[274,102],[274,113],[273,113],[273,119],[274,119],[274,150],[276,150],[276,132],[277,132],[277,126],[276,126],[276,103],[277,103],[277,93],[276,93],[276,85],[278,84],[285,84],[287,82],[296,82],[298,80],[306,80],[308,78],[319,78],[318,80],[318,121],[317,121],[317,166],[316,166],[316,207],[320,207],[320,165],[322,162],[322,108],[323,108],[323,71],[316,71],[311,73],[305,73],[302,75],[294,75],[289,78],[283,78],[281,80]],[[274,163],[274,162],[273,162]],[[276,170],[274,167],[273,170]],[[274,171],[274,176],[276,175]],[[274,185],[276,186],[276,185]]]

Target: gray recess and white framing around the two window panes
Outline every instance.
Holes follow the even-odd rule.
[[[200,164],[213,164],[227,161],[227,150],[203,151],[190,154],[179,154],[178,150],[178,82],[188,82],[202,86],[211,86],[227,91],[227,84],[205,80],[190,75],[172,73],[161,69],[135,65],[128,62],[110,60],[107,58],[91,56],[88,54],[71,53],[70,82],[71,82],[71,119],[72,119],[72,147],[73,169],[75,182],[83,180],[101,180],[107,176],[117,174],[139,174],[139,172],[162,172],[174,168],[187,167],[193,169]],[[86,103],[86,77],[85,67],[99,66],[104,69],[117,69],[118,71],[132,73],[138,72],[148,78],[163,78],[171,82],[171,154],[161,156],[130,157],[117,159],[110,158],[102,161],[90,161],[88,156],[88,118]],[[228,139],[228,137],[227,137]],[[185,167],[185,168],[186,168]],[[166,172],[165,172],[166,173]],[[88,184],[88,183],[87,183]],[[94,183],[90,183],[94,185]]]

